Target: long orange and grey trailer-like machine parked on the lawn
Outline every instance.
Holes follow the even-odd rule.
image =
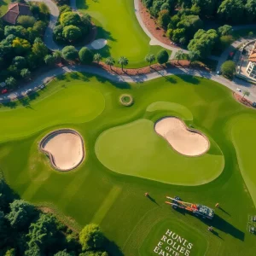
[[[173,209],[184,209],[186,211],[192,212],[193,214],[195,214],[195,216],[202,218],[212,219],[214,217],[214,211],[210,207],[182,201],[181,198],[179,198],[178,196],[175,196],[174,198],[166,196],[166,198],[171,200],[166,201],[166,204],[171,205]]]

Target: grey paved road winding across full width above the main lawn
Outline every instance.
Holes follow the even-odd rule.
[[[224,86],[230,88],[230,90],[236,91],[236,88],[239,87],[241,90],[251,90],[251,95],[247,97],[252,102],[256,102],[256,92],[252,90],[252,84],[248,84],[247,82],[236,80],[236,82],[229,81],[224,79],[221,76],[216,75],[215,73],[208,73],[207,71],[199,71],[193,70],[189,68],[170,68],[165,71],[149,73],[146,75],[137,75],[137,76],[120,76],[116,74],[108,73],[107,71],[98,68],[98,67],[90,67],[90,66],[68,66],[68,67],[58,67],[55,69],[50,70],[47,73],[38,76],[37,79],[33,80],[31,83],[27,84],[25,87],[16,90],[13,93],[9,93],[6,95],[0,96],[0,102],[9,102],[10,100],[15,100],[18,97],[26,96],[26,90],[39,90],[39,86],[41,84],[46,84],[50,79],[55,78],[63,73],[70,73],[70,72],[86,72],[92,73],[95,75],[99,75],[105,79],[109,79],[113,82],[120,82],[120,83],[143,83],[148,80],[157,79],[160,77],[167,77],[172,75],[179,75],[179,74],[188,74],[197,77],[204,77],[206,79],[212,79],[220,84],[224,84]],[[239,93],[239,92],[238,92]]]

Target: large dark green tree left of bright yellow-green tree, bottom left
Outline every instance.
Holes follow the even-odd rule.
[[[55,243],[56,239],[55,217],[49,214],[41,214],[38,221],[32,223],[29,227],[29,232],[26,235],[29,248],[39,247],[44,252],[44,249]]]

